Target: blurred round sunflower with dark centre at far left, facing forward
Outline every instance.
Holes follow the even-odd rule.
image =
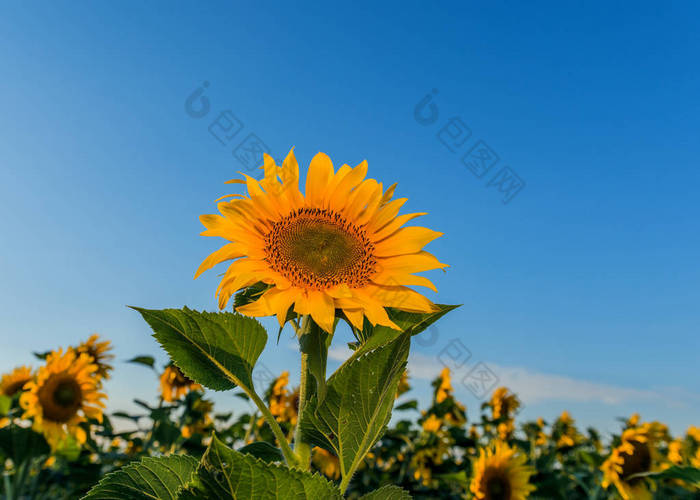
[[[23,418],[34,419],[34,430],[54,448],[70,437],[84,443],[80,424],[88,418],[102,421],[105,395],[98,392],[97,366],[91,361],[73,350],[53,351],[20,396]]]

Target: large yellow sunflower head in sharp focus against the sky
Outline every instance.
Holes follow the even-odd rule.
[[[431,312],[435,305],[408,288],[436,290],[414,273],[442,269],[423,247],[442,235],[423,227],[402,227],[423,213],[398,215],[405,198],[391,200],[394,187],[365,179],[367,162],[334,171],[330,158],[318,153],[299,190],[299,166],[290,151],[281,167],[265,155],[265,177],[245,174],[247,195],[220,201],[222,215],[202,215],[203,236],[219,236],[228,244],[207,257],[195,278],[223,261],[233,260],[219,284],[219,307],[237,290],[258,282],[269,285],[255,302],[237,310],[250,316],[277,315],[284,324],[294,306],[332,332],[335,310],[361,329],[364,317],[373,324],[398,329],[385,307]]]

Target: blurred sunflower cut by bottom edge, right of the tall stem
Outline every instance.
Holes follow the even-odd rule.
[[[469,490],[485,500],[523,500],[535,490],[530,476],[535,470],[525,465],[527,457],[502,441],[482,448],[474,464]]]

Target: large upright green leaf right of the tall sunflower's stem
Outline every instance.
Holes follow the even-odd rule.
[[[410,337],[353,356],[328,379],[325,400],[313,396],[301,415],[304,440],[338,456],[343,478],[352,476],[391,418],[406,368]]]

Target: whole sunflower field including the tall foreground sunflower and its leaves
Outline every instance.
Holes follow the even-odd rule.
[[[442,234],[404,226],[423,214],[399,215],[406,199],[366,179],[366,162],[335,170],[319,153],[303,194],[293,152],[261,168],[200,217],[202,235],[226,240],[195,275],[230,261],[222,311],[133,308],[170,358],[133,353],[154,387],[138,413],[107,410],[114,355],[97,334],[6,367],[3,499],[700,498],[700,427],[672,436],[634,414],[604,437],[566,411],[520,421],[507,387],[468,412],[447,368],[421,408],[412,338],[457,306],[411,287],[437,291],[417,273],[448,267],[424,250]],[[278,320],[273,340],[286,327],[298,340],[297,387],[285,370],[256,390],[264,316]],[[339,324],[352,353],[327,373]],[[208,391],[249,410],[216,408]]]

